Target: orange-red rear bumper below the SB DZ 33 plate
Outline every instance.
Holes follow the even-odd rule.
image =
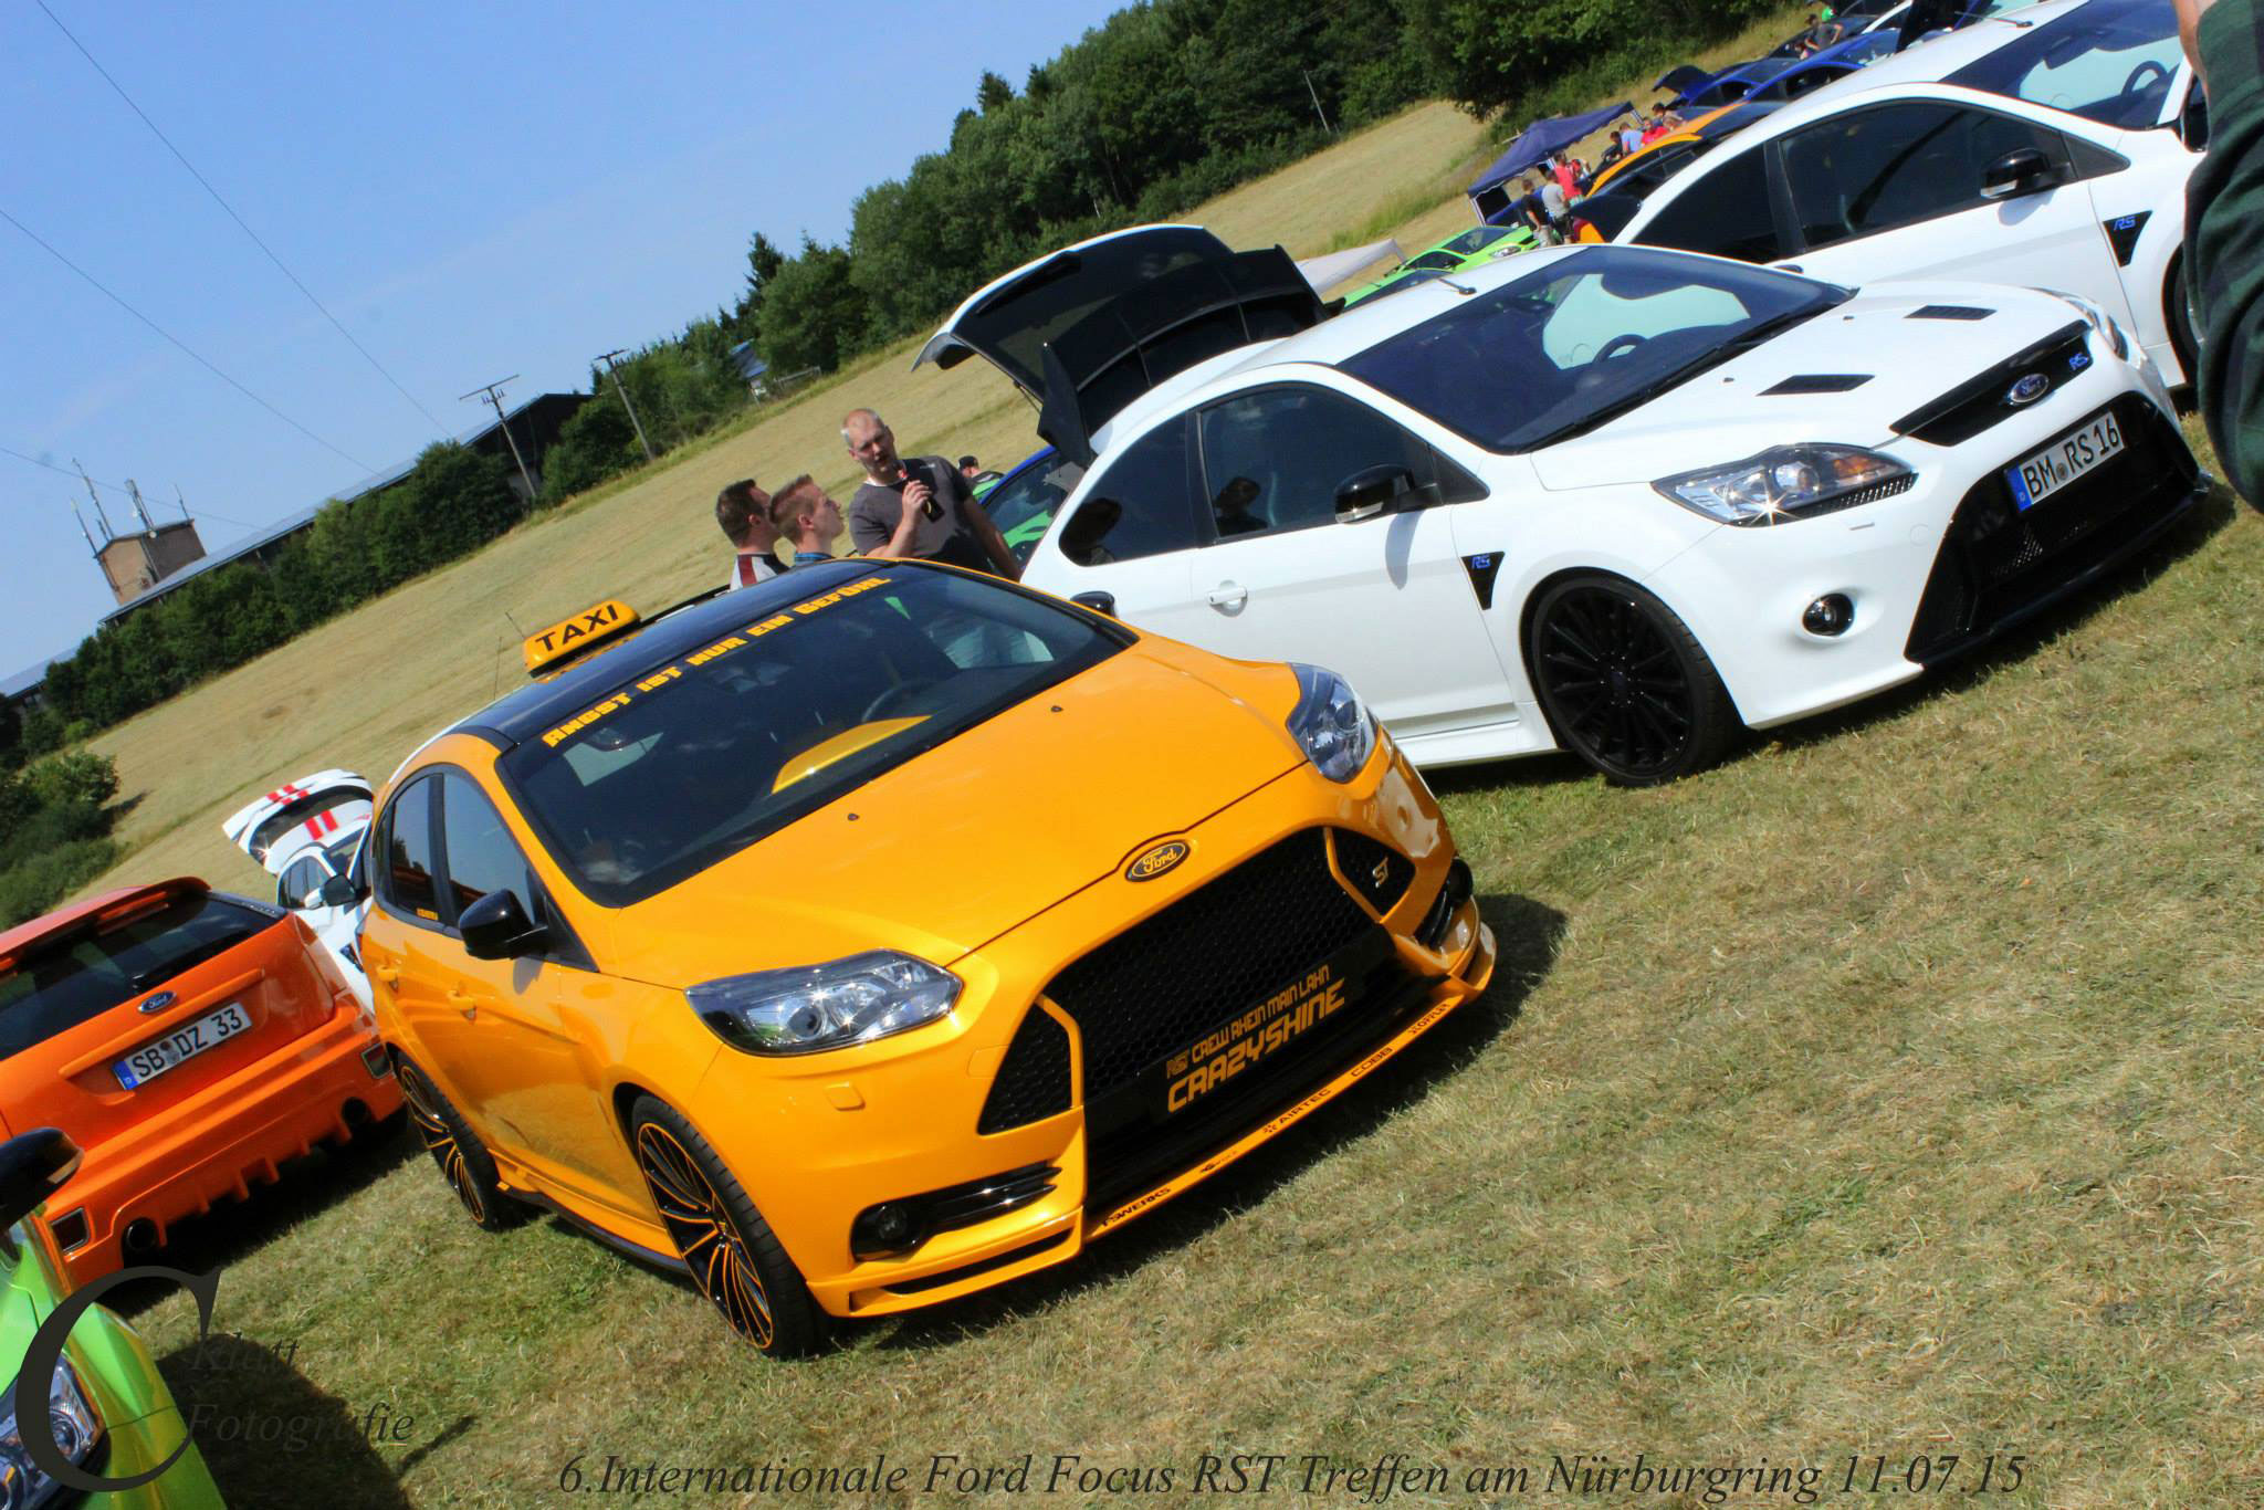
[[[100,1279],[125,1263],[120,1238],[147,1218],[163,1243],[172,1222],[201,1216],[222,1198],[247,1200],[251,1184],[272,1184],[276,1166],[312,1152],[317,1143],[353,1136],[349,1107],[371,1118],[401,1107],[392,1066],[367,1050],[378,1035],[351,1005],[321,1028],[220,1080],[195,1100],[134,1125],[86,1150],[86,1164],[48,1202],[50,1225],[75,1236],[72,1213],[84,1211],[86,1236],[63,1254],[72,1286]]]

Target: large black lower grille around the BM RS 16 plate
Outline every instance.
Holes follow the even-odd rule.
[[[2015,507],[2004,469],[1965,494],[1918,602],[1909,659],[1933,666],[1979,645],[2096,580],[2192,507],[2198,469],[2185,439],[2135,394],[2110,407],[2121,455],[2033,509]]]

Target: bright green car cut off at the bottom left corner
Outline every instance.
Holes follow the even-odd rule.
[[[0,1266],[7,1270],[7,1295],[0,1297],[0,1358],[9,1365],[9,1385],[0,1395],[0,1505],[7,1510],[41,1510],[41,1505],[93,1505],[97,1510],[172,1510],[179,1505],[220,1505],[220,1490],[188,1440],[188,1424],[172,1392],[156,1372],[156,1361],[134,1333],[102,1306],[88,1306],[70,1336],[48,1388],[48,1429],[63,1460],[93,1478],[138,1478],[172,1453],[179,1458],[163,1474],[131,1490],[72,1487],[50,1478],[25,1442],[16,1415],[16,1388],[25,1354],[38,1340],[41,1322],[68,1295],[61,1259],[48,1229],[32,1218],[48,1195],[59,1191],[79,1168],[77,1146],[54,1127],[25,1132],[0,1143]]]

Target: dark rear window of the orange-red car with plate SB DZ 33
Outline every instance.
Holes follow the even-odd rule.
[[[272,928],[276,912],[254,912],[211,892],[152,896],[145,912],[109,926],[93,921],[34,942],[0,969],[0,1057],[154,992],[192,964]]]

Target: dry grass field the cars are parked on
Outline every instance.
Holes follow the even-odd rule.
[[[1313,251],[1476,152],[1429,106],[1204,220],[1268,240],[1327,183],[1338,220],[1290,240]],[[217,831],[245,792],[392,770],[509,684],[507,614],[704,586],[715,484],[844,480],[847,403],[921,446],[1030,444],[1003,383],[906,360],[104,736],[138,797],[120,874],[249,883]],[[761,1363],[691,1288],[561,1225],[475,1232],[398,1141],[188,1234],[179,1261],[226,1263],[229,1336],[197,1345],[179,1297],[136,1324],[240,1505],[525,1505],[604,1485],[607,1458],[881,1453],[910,1472],[892,1503],[944,1456],[940,1492],[1030,1456],[1023,1490],[974,1499],[1177,1503],[1204,1453],[1284,1453],[1272,1499],[1345,1505],[1349,1478],[1302,1492],[1306,1456],[1444,1469],[1408,1503],[1811,1503],[1800,1478],[1551,1481],[1639,1453],[1813,1469],[1813,1503],[2264,1503],[2259,582],[2264,516],[2219,494],[2083,604],[1691,781],[1442,777],[1503,944],[1487,998],[1069,1270],[813,1363]],[[324,1440],[229,1435],[292,1419]],[[1080,1462],[1046,1494],[1057,1456]],[[1922,1494],[1870,1487],[1920,1460]],[[1080,1469],[1148,1469],[1148,1492]]]

